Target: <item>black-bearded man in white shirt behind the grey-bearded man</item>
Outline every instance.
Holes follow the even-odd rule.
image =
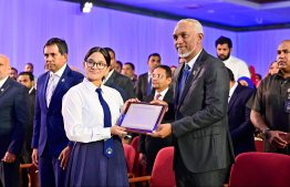
[[[218,59],[221,60],[225,63],[225,65],[232,71],[235,80],[238,80],[241,76],[247,76],[250,79],[250,71],[246,62],[230,55],[232,51],[232,44],[230,39],[221,35],[216,41],[216,50]]]

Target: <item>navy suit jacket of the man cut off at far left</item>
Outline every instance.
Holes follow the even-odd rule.
[[[30,123],[29,90],[8,77],[0,89],[0,158],[7,152],[22,156]]]

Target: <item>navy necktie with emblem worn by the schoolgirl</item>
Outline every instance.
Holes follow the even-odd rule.
[[[105,100],[102,96],[102,90],[101,89],[96,89],[95,90],[97,92],[99,95],[99,101],[103,107],[104,111],[104,127],[111,127],[112,126],[112,122],[111,122],[111,112],[110,112],[110,107],[106,104]],[[104,155],[107,158],[111,158],[114,155],[114,141],[113,137],[104,141]]]

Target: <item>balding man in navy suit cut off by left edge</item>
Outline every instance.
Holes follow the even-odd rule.
[[[29,91],[9,72],[9,60],[0,54],[0,186],[20,186],[19,158],[30,123]]]

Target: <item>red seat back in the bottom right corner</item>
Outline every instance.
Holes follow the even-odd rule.
[[[290,186],[290,156],[275,153],[244,153],[236,157],[229,178],[234,186]]]

